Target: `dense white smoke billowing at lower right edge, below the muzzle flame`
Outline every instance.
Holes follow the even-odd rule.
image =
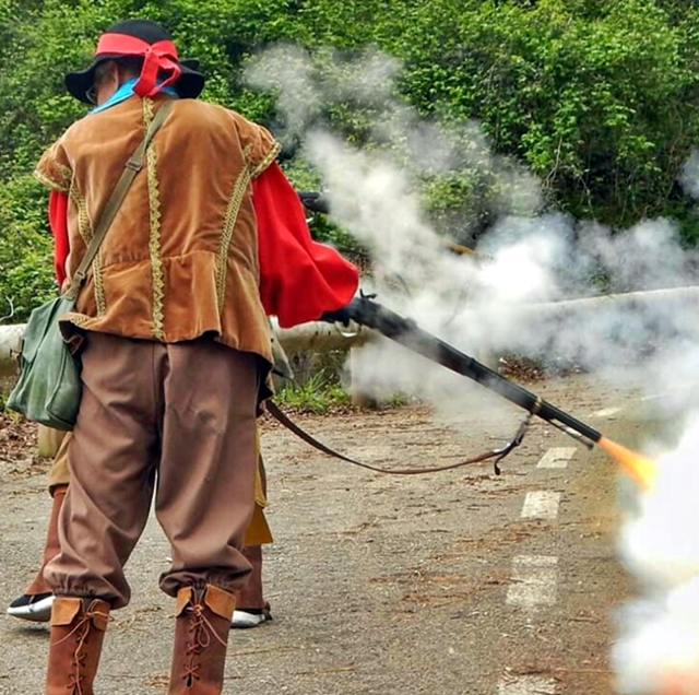
[[[620,533],[620,556],[643,596],[621,611],[612,652],[625,695],[699,693],[699,505],[687,494],[699,491],[698,450],[695,413]]]

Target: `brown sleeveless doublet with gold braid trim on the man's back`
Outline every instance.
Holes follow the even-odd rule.
[[[132,96],[91,114],[42,156],[36,177],[69,198],[69,278],[165,98]],[[239,114],[178,99],[63,318],[67,332],[166,343],[210,334],[271,362],[251,182],[277,153],[272,136]]]

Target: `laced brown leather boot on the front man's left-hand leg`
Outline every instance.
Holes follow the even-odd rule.
[[[51,612],[46,695],[93,695],[109,604],[56,597]]]

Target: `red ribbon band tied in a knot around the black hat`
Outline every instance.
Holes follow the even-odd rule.
[[[96,57],[100,55],[143,56],[141,75],[133,87],[133,91],[141,97],[154,96],[168,84],[176,82],[182,73],[177,48],[170,40],[149,44],[128,34],[103,34],[95,51]],[[159,70],[168,71],[170,74],[158,83],[157,73]]]

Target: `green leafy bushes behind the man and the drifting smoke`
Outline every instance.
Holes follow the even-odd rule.
[[[414,167],[405,142],[375,127],[389,98],[462,134],[463,161],[419,170],[425,211],[457,240],[487,231],[512,209],[508,162],[541,180],[545,203],[574,217],[627,227],[678,220],[685,240],[699,220],[676,180],[699,143],[699,8],[682,0],[0,0],[0,297],[17,318],[54,292],[45,192],[31,172],[42,151],[84,107],[63,75],[88,64],[98,34],[127,16],[163,22],[185,57],[201,60],[204,98],[232,106],[275,132],[287,126],[274,90],[245,71],[280,43],[308,51],[308,123],[348,142],[393,153]],[[396,83],[371,92],[357,61],[387,54]],[[345,87],[353,84],[362,98]],[[395,102],[393,102],[395,103]],[[469,152],[477,121],[488,141]],[[322,188],[298,139],[285,168],[298,188]],[[484,156],[497,154],[498,166]],[[507,201],[507,205],[503,204]],[[508,208],[508,205],[510,205]],[[318,217],[317,238],[364,249]]]

